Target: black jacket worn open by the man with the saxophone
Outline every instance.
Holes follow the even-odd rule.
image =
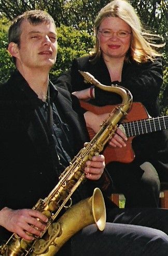
[[[58,183],[48,127],[39,116],[38,100],[27,99],[27,89],[31,88],[17,71],[0,87],[0,209],[32,208]],[[85,119],[75,96],[62,88],[55,90],[54,103],[70,128],[75,156],[89,141]],[[75,191],[74,202],[90,196],[100,184],[101,178],[95,182],[87,180]],[[2,230],[0,227],[1,239]]]

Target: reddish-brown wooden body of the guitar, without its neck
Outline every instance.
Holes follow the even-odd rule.
[[[116,107],[116,105],[107,105],[103,107],[97,107],[82,100],[80,100],[80,106],[86,109],[87,111],[93,112],[95,114],[108,113],[108,112],[111,112]],[[138,116],[138,120],[149,118],[145,107],[141,103],[132,104],[130,111],[128,112],[127,116],[125,116],[125,118],[122,120],[122,123],[135,121],[137,120],[137,116]],[[87,129],[89,132],[90,139],[92,139],[95,133],[90,127],[87,127]],[[128,138],[126,142],[127,144],[126,147],[115,148],[115,147],[111,147],[110,145],[107,145],[106,148],[103,150],[103,155],[105,156],[105,163],[107,164],[109,162],[114,162],[114,161],[122,162],[122,163],[132,162],[135,158],[135,153],[132,149],[133,138],[134,136]]]

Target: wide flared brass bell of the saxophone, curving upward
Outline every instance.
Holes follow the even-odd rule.
[[[53,223],[43,239],[33,245],[31,256],[54,256],[60,248],[82,228],[95,223],[100,231],[106,224],[106,209],[102,192],[95,188],[90,198],[81,200],[69,208]]]

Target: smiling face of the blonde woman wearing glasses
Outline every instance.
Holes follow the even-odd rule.
[[[104,59],[123,58],[131,44],[131,27],[117,17],[105,18],[98,32]]]

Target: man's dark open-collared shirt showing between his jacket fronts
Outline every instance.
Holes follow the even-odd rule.
[[[73,137],[71,133],[69,133],[67,123],[61,120],[57,107],[53,103],[53,100],[57,98],[58,91],[51,82],[49,82],[48,92],[47,100],[43,101],[38,98],[38,95],[30,86],[26,86],[24,90],[26,97],[33,100],[38,105],[38,113],[41,116],[41,121],[45,122],[48,127],[47,131],[51,152],[53,152],[55,171],[57,171],[57,175],[60,176],[72,160],[70,156],[74,155],[71,147]]]

